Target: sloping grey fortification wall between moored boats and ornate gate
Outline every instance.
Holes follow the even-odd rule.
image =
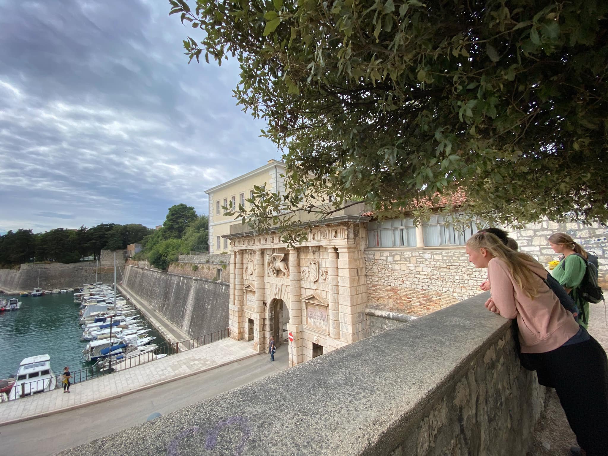
[[[122,286],[190,337],[228,327],[229,285],[225,282],[127,265]]]

